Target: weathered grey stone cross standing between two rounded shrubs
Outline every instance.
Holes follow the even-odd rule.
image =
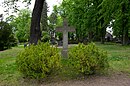
[[[67,19],[63,20],[63,27],[57,27],[56,32],[63,33],[63,50],[61,52],[63,57],[68,57],[68,32],[75,32],[73,27],[69,27]]]

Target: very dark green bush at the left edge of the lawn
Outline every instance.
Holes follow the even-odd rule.
[[[14,37],[12,27],[8,23],[0,22],[0,50],[8,49],[17,45],[17,39]]]

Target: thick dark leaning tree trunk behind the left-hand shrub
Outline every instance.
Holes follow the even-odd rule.
[[[37,44],[41,40],[40,19],[45,0],[35,0],[30,28],[30,44]]]

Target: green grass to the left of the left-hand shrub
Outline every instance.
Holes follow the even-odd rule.
[[[17,54],[23,50],[20,47],[13,47],[0,52],[0,86],[16,86],[20,76],[17,71],[15,59]]]

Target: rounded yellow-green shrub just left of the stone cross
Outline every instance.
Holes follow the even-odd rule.
[[[61,56],[56,47],[48,43],[31,45],[21,52],[16,59],[18,70],[26,77],[45,78],[61,68]]]

